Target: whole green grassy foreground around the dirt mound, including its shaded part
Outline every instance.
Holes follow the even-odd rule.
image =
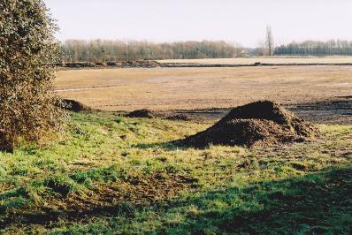
[[[0,153],[3,233],[349,234],[352,126],[275,148],[180,148],[211,123],[72,114],[45,147]]]

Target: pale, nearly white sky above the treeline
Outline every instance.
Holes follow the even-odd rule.
[[[352,41],[352,0],[44,0],[57,39],[180,42],[224,40],[256,47],[272,27],[276,45]]]

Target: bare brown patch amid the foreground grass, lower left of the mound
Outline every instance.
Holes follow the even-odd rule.
[[[175,197],[184,189],[195,187],[195,182],[195,178],[166,172],[155,172],[147,176],[136,174],[125,180],[100,185],[89,198],[79,194],[71,195],[72,200],[81,203],[72,203],[69,208],[75,211],[87,210],[123,201],[134,205],[150,205]],[[82,203],[85,204],[84,207],[77,207]]]

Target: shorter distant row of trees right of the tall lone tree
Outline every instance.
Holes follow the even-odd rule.
[[[275,56],[352,56],[352,42],[348,41],[305,41],[281,45],[274,50]]]

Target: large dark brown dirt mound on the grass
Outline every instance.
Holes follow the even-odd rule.
[[[313,140],[318,129],[275,102],[252,102],[237,107],[207,130],[187,137],[182,143],[196,148],[209,144],[267,146]]]

